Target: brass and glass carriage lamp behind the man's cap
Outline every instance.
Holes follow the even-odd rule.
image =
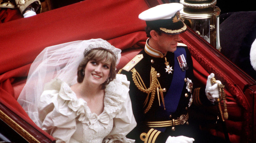
[[[221,10],[215,6],[217,0],[180,0],[184,8],[180,11],[184,23],[221,51],[219,18]]]

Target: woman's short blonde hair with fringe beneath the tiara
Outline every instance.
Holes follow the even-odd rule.
[[[109,81],[105,81],[101,84],[101,88],[105,89],[106,85],[109,84],[110,81],[116,78],[116,58],[114,54],[104,48],[94,48],[90,50],[81,61],[77,68],[77,82],[81,83],[84,79],[84,68],[90,60],[95,60],[97,62],[102,62],[103,64],[110,64],[110,72],[109,72]]]

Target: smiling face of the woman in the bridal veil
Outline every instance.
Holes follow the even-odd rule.
[[[96,85],[101,85],[109,77],[110,64],[90,60],[84,69],[84,80]]]

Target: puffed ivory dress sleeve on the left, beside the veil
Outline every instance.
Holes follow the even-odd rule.
[[[47,83],[40,97],[38,107],[42,129],[58,142],[69,142],[76,130],[76,113],[68,107],[68,102],[61,98],[61,81],[54,79]],[[63,96],[63,95],[62,95]]]

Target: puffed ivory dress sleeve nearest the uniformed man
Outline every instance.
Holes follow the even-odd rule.
[[[125,137],[130,131],[132,131],[133,128],[136,127],[137,123],[132,112],[132,104],[129,96],[129,82],[127,81],[125,75],[121,75],[121,77],[123,78],[122,88],[125,88],[125,94],[122,95],[124,98],[124,103],[122,104],[120,111],[118,111],[113,119],[114,124],[112,131],[103,140],[103,142],[105,141],[106,143],[113,143],[117,141],[123,143],[135,142],[135,140]]]

